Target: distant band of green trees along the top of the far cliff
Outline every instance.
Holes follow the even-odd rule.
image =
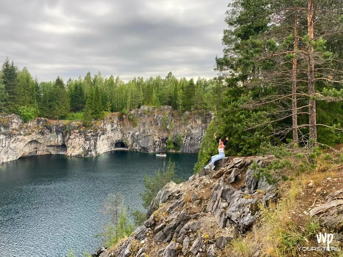
[[[26,67],[19,70],[7,58],[0,73],[0,111],[18,113],[25,121],[35,117],[54,119],[101,119],[104,111],[122,111],[141,105],[169,105],[179,112],[212,110],[223,90],[214,79],[177,79],[171,72],[165,78],[133,78],[125,83],[119,76],[109,78],[88,72],[64,82],[39,82]]]

